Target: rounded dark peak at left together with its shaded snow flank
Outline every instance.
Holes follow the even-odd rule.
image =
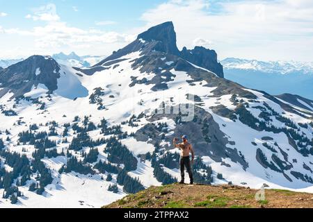
[[[58,65],[49,56],[31,56],[1,70],[0,84],[0,96],[10,92],[14,98],[42,89],[48,94],[54,92],[68,99],[88,96],[88,90],[81,85],[79,74],[74,69]]]

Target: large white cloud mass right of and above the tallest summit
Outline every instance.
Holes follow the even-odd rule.
[[[209,40],[219,58],[313,58],[308,50],[313,49],[311,0],[172,0],[147,10],[141,19],[144,28],[172,21],[179,48],[191,47],[197,39]]]

